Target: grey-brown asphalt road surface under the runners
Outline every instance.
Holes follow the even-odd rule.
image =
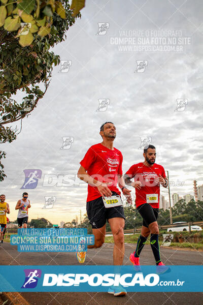
[[[129,255],[133,244],[125,244],[124,265],[130,265]],[[99,249],[88,249],[85,265],[112,265],[113,244],[105,243]],[[3,243],[0,248],[1,265],[78,265],[75,253],[19,253],[17,246]],[[161,248],[161,258],[166,265],[201,265],[202,251]],[[153,265],[151,247],[142,251],[141,264]],[[1,287],[1,283],[0,283]],[[203,293],[191,292],[131,292],[115,297],[104,292],[24,292],[21,295],[30,305],[202,305]],[[3,303],[3,302],[2,302]],[[1,302],[0,302],[1,304]],[[10,305],[7,302],[7,305]],[[22,304],[23,305],[23,304]]]

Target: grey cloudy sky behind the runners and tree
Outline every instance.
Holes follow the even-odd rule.
[[[117,128],[114,146],[123,154],[123,172],[143,161],[141,137],[148,137],[156,146],[156,163],[169,171],[172,194],[193,195],[194,178],[202,185],[200,5],[198,0],[87,1],[66,41],[53,49],[70,67],[53,68],[48,92],[23,119],[17,140],[2,145],[7,178],[1,193],[10,203],[11,220],[17,218],[26,169],[42,171],[37,187],[25,188],[29,220],[45,217],[59,224],[80,218],[80,210],[84,215],[87,186],[74,175],[87,149],[101,142],[99,127],[109,120]],[[96,111],[105,99],[107,109]],[[62,137],[71,138],[69,149],[61,149]],[[61,186],[64,176],[69,184]],[[46,196],[56,197],[53,208],[43,209]]]

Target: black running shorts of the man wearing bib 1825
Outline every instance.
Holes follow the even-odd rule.
[[[112,192],[112,196],[118,195]],[[123,206],[113,206],[106,208],[102,197],[88,201],[87,216],[92,229],[99,229],[103,227],[110,218],[120,217],[125,219]]]

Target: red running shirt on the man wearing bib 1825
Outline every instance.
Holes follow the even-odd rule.
[[[101,182],[112,182],[108,188],[120,195],[117,188],[118,175],[122,175],[123,156],[117,148],[109,149],[98,143],[92,145],[80,164],[94,179]],[[101,196],[97,187],[88,184],[87,202]]]

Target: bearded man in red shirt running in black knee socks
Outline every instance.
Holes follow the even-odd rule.
[[[125,183],[136,189],[136,207],[143,218],[141,235],[138,239],[136,251],[130,254],[130,261],[133,265],[140,265],[140,253],[147,241],[147,237],[151,233],[150,244],[156,265],[163,266],[158,242],[159,229],[157,217],[160,184],[166,188],[168,180],[164,168],[155,163],[156,149],[153,145],[145,147],[143,156],[145,161],[132,165],[124,175]],[[130,181],[131,178],[134,178],[134,182]]]

